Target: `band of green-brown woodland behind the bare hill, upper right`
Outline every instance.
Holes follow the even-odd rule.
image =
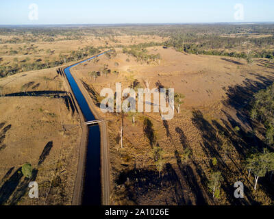
[[[251,52],[237,52],[242,49],[242,45],[251,47]],[[166,47],[173,47],[177,51],[201,54],[201,55],[223,55],[237,58],[247,58],[249,55],[255,58],[273,59],[273,49],[261,49],[274,45],[274,37],[266,38],[233,38],[216,36],[215,34],[196,36],[195,34],[186,34],[182,36],[173,36],[165,42]],[[253,48],[254,47],[254,48]],[[258,49],[256,49],[258,48]],[[253,49],[253,50],[252,50]],[[227,51],[227,50],[230,50]]]

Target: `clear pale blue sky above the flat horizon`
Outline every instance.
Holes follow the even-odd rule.
[[[29,5],[38,20],[29,20]],[[244,20],[234,19],[234,5]],[[0,25],[273,22],[273,0],[1,0]]]

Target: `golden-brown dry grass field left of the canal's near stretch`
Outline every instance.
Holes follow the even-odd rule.
[[[70,205],[79,159],[79,116],[55,68],[0,79],[1,205]],[[32,179],[21,167],[32,164]],[[39,185],[28,196],[29,181]]]

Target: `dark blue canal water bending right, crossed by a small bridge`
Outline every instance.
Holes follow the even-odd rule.
[[[105,51],[107,53],[109,51]],[[77,64],[64,68],[64,73],[69,81],[75,99],[84,114],[86,121],[96,120],[81,90],[71,75],[70,69],[78,64],[87,62],[104,53],[90,57]],[[88,149],[86,153],[86,174],[84,180],[84,194],[82,205],[101,205],[101,162],[100,162],[100,129],[98,125],[88,127]]]

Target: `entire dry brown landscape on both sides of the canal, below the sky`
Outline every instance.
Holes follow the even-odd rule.
[[[0,29],[0,39],[0,205],[71,204],[82,130],[63,79],[49,67],[105,49],[110,56],[71,70],[96,105],[116,82],[184,95],[166,121],[97,108],[108,122],[112,204],[273,205],[270,174],[255,191],[244,164],[254,148],[273,151],[265,127],[249,116],[253,94],[274,81],[272,25]],[[26,162],[42,185],[36,201],[27,198],[34,180],[22,175]],[[223,178],[214,198],[212,171]],[[234,198],[236,181],[245,198]]]

